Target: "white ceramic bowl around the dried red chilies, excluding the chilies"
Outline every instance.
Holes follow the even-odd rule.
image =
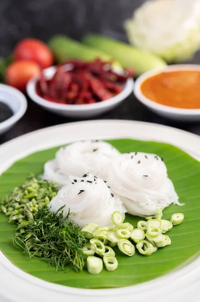
[[[66,70],[72,70],[72,64],[66,64]],[[52,66],[43,70],[44,77],[46,80],[50,80],[53,78],[55,72],[57,70],[56,66]],[[37,93],[37,83],[39,81],[39,77],[32,78],[27,84],[27,93],[29,97],[38,105],[43,107],[44,109],[51,111],[53,113],[72,118],[90,118],[93,116],[100,115],[107,111],[112,110],[120,103],[122,103],[128,95],[131,94],[134,86],[134,81],[132,78],[128,78],[125,83],[122,84],[122,91],[104,101],[100,101],[93,104],[60,104],[51,102],[43,97],[41,97]]]

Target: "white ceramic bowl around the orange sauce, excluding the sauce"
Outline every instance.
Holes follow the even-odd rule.
[[[175,108],[170,106],[161,105],[156,103],[143,95],[141,92],[141,84],[153,75],[159,74],[160,72],[178,71],[178,70],[195,70],[200,72],[200,65],[197,64],[176,64],[169,65],[162,69],[150,70],[142,75],[135,81],[134,94],[136,98],[145,105],[149,110],[154,113],[177,121],[200,121],[200,96],[199,96],[199,109],[183,109]],[[199,83],[200,85],[200,83]],[[191,96],[192,97],[192,96]]]

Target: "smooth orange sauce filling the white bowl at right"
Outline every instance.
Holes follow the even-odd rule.
[[[200,109],[200,71],[165,71],[141,84],[148,99],[170,107]]]

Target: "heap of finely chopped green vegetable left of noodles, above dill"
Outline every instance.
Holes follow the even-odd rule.
[[[34,220],[36,213],[56,196],[56,186],[57,184],[32,175],[23,185],[14,188],[11,194],[5,195],[1,200],[1,208],[10,216],[9,223],[22,224],[24,221]],[[24,227],[26,225],[28,224],[24,224]]]

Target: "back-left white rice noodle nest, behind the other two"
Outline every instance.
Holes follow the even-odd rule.
[[[65,185],[69,175],[82,177],[91,173],[106,179],[107,167],[120,153],[111,144],[99,140],[86,140],[61,147],[56,158],[44,166],[44,179]]]

